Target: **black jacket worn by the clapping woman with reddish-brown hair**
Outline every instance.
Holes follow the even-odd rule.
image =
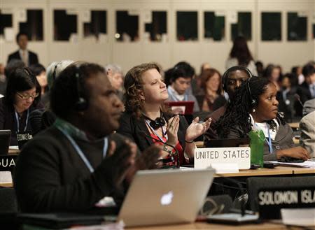
[[[165,120],[168,121],[171,117],[171,114],[165,113]],[[188,123],[185,117],[180,116],[179,131],[177,134],[179,137],[179,143],[181,143],[183,150],[185,150],[185,135],[187,127]],[[141,151],[144,151],[146,148],[148,148],[150,145],[153,145],[154,143],[151,138],[144,136],[144,134],[150,136],[144,118],[137,118],[132,115],[132,113],[123,113],[123,115],[120,117],[120,127],[117,132],[119,134],[122,134],[123,136],[127,136],[132,141],[134,141],[134,143],[137,144],[138,148]]]

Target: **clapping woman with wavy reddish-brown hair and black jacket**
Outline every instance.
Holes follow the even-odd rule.
[[[166,113],[164,102],[169,95],[160,71],[157,64],[146,63],[127,72],[124,82],[125,112],[117,132],[137,143],[140,150],[155,142],[168,143],[179,152],[180,164],[187,164],[194,157],[195,138],[207,131],[211,119],[200,124],[196,117],[188,127],[185,117]],[[164,150],[169,152],[165,155],[169,164],[176,164],[176,156],[171,161],[171,155],[176,151],[167,145],[164,145]]]

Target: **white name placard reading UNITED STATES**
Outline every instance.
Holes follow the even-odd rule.
[[[237,164],[239,169],[248,169],[251,167],[251,148],[195,148],[195,168],[207,168],[217,163]]]

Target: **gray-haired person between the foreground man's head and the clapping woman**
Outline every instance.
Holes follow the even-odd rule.
[[[111,82],[111,85],[114,89],[116,89],[117,95],[120,100],[123,99],[123,71],[121,70],[120,66],[116,64],[108,64],[105,66],[105,71],[107,74],[107,77],[109,78],[109,81]]]

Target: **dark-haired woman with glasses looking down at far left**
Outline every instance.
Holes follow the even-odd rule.
[[[10,145],[18,145],[17,134],[32,133],[29,114],[43,108],[41,86],[31,71],[25,67],[15,69],[8,78],[6,95],[0,99],[0,129],[11,130]]]

